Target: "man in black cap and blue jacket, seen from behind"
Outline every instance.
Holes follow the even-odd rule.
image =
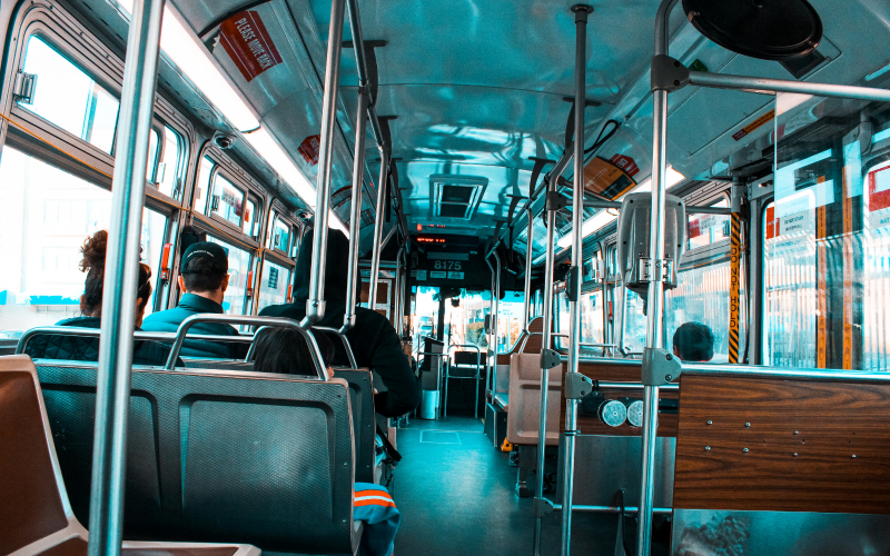
[[[185,291],[179,305],[175,309],[158,311],[146,317],[142,325],[145,330],[175,332],[179,325],[192,315],[225,312],[222,299],[229,285],[229,259],[221,246],[210,241],[191,244],[182,254],[179,268],[179,289]],[[214,336],[238,336],[235,327],[221,322],[198,322],[189,331]],[[187,339],[179,355],[194,358],[239,359],[246,351],[246,345]]]

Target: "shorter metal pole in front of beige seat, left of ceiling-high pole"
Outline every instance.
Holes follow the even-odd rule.
[[[556,180],[560,179],[558,175],[551,176],[547,191],[556,190]],[[548,206],[547,211],[547,242],[546,251],[544,255],[544,287],[541,288],[541,294],[544,297],[544,307],[542,310],[542,318],[544,319],[544,329],[541,338],[541,349],[551,349],[553,334],[553,255],[556,235],[556,211],[551,210]],[[547,448],[547,394],[550,390],[550,369],[541,368],[541,405],[537,416],[537,467],[535,470],[535,498],[544,497],[544,463],[546,459]],[[541,516],[535,515],[535,535],[534,535],[534,556],[541,556]]]

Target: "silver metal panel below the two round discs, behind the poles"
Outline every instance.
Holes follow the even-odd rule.
[[[642,446],[639,436],[575,437],[575,485],[572,504],[614,506],[615,494],[623,488],[624,504],[635,506],[640,498]],[[673,504],[675,446],[675,438],[659,437],[655,440],[655,507],[671,507]],[[562,458],[561,437],[560,461]],[[557,485],[555,500],[562,500],[562,481]]]

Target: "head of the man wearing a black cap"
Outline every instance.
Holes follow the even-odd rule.
[[[229,258],[222,246],[210,241],[191,244],[179,264],[179,288],[222,305],[229,286]]]

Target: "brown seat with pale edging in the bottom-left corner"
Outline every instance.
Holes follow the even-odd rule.
[[[0,357],[0,554],[86,555],[88,533],[71,512],[37,371],[24,355]],[[125,542],[139,556],[258,556],[256,547]]]

